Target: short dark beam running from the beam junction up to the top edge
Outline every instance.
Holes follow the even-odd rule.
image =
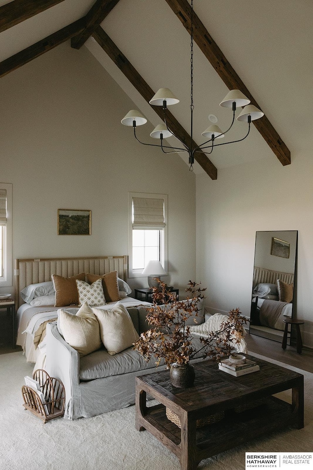
[[[118,2],[119,0],[97,0],[86,15],[86,28],[81,34],[72,38],[71,47],[75,49],[82,47]]]

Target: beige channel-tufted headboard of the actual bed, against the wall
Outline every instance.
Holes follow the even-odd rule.
[[[102,275],[111,271],[117,271],[118,277],[127,281],[128,256],[16,259],[14,276],[17,306],[24,303],[20,292],[26,285],[51,281],[52,274],[67,278],[83,272]]]

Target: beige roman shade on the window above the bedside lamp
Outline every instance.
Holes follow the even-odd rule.
[[[164,199],[133,197],[133,217],[133,229],[164,227]]]

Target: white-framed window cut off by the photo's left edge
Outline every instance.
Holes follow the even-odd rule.
[[[12,185],[0,183],[0,286],[12,285]]]

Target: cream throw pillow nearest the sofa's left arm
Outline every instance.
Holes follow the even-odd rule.
[[[59,321],[65,341],[76,349],[80,356],[86,356],[101,348],[99,323],[87,302],[80,307],[76,315],[61,308]]]

